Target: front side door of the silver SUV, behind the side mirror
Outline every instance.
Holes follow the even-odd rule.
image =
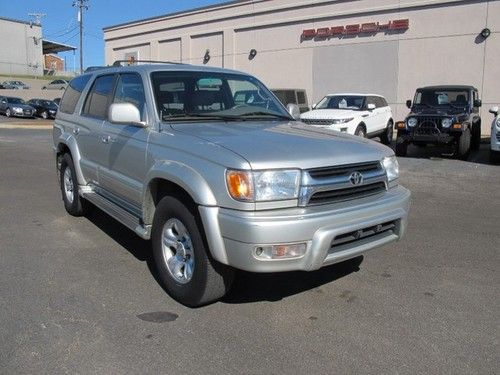
[[[142,78],[137,73],[119,74],[112,103],[132,103],[146,121],[146,99]],[[100,170],[100,186],[110,198],[140,212],[149,129],[132,124],[104,121],[102,145],[105,163]]]

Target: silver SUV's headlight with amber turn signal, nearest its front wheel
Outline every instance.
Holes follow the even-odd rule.
[[[226,172],[229,195],[245,202],[295,199],[299,194],[299,182],[298,169]]]

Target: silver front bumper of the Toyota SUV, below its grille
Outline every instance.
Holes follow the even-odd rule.
[[[410,192],[398,186],[376,199],[335,205],[251,212],[200,207],[200,213],[216,260],[252,272],[312,271],[400,239],[409,204]],[[340,237],[385,223],[393,229],[332,246]],[[278,260],[255,254],[259,246],[287,243],[306,243],[305,255]]]

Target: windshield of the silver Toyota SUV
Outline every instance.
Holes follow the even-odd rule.
[[[276,120],[291,117],[256,78],[213,72],[154,72],[156,108],[162,121]]]

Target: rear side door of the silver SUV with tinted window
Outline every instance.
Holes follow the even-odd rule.
[[[108,113],[114,81],[115,74],[104,74],[94,80],[85,98],[78,125],[73,130],[80,149],[82,172],[88,182],[97,186],[100,184],[99,170],[106,158],[101,128]]]

